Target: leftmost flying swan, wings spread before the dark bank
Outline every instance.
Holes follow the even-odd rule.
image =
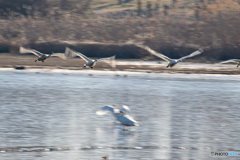
[[[60,58],[62,58],[62,59],[66,59],[66,56],[65,56],[65,54],[63,54],[63,53],[43,54],[43,53],[41,53],[41,52],[39,52],[39,51],[36,51],[36,50],[34,50],[34,49],[28,49],[28,48],[24,48],[24,47],[22,47],[22,46],[20,47],[19,52],[20,52],[20,53],[33,53],[33,54],[35,54],[36,56],[38,56],[38,59],[36,59],[35,62],[37,62],[37,61],[42,61],[42,62],[44,62],[44,60],[46,60],[47,58],[49,58],[49,57],[51,57],[51,56],[58,56],[58,57],[60,57]]]

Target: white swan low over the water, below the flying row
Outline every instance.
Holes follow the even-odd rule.
[[[96,114],[104,115],[108,112],[112,112],[117,120],[124,126],[139,126],[138,122],[131,116],[131,111],[128,106],[123,105],[121,109],[118,109],[115,105],[104,106],[101,110],[97,111]]]

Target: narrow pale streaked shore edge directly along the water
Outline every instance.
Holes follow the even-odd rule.
[[[129,61],[129,63],[131,63]],[[150,62],[153,63],[153,62]],[[155,62],[157,63],[157,62]],[[63,71],[63,72],[75,72],[75,73],[93,73],[93,72],[119,72],[119,73],[138,73],[138,74],[218,74],[218,75],[240,75],[240,68],[236,68],[235,65],[215,65],[215,64],[200,64],[200,63],[182,63],[176,65],[173,68],[166,68],[165,64],[153,64],[153,65],[117,65],[116,68],[111,68],[104,65],[96,65],[93,69],[84,68],[82,66],[31,66],[31,65],[0,65],[0,71],[4,70],[22,70],[22,71]]]

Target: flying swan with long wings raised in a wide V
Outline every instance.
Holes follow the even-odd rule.
[[[161,53],[158,53],[158,52],[152,50],[148,46],[142,46],[142,45],[138,45],[138,46],[143,48],[143,49],[146,49],[151,54],[153,54],[153,55],[155,55],[155,56],[157,56],[157,57],[167,61],[168,62],[167,68],[175,66],[178,62],[180,62],[180,61],[182,61],[184,59],[191,58],[193,56],[196,56],[196,55],[199,55],[199,54],[203,53],[203,50],[201,48],[199,48],[197,51],[191,53],[190,55],[184,56],[184,57],[179,58],[179,59],[171,59],[171,58],[169,58],[169,57],[167,57],[167,56],[165,56],[165,55],[163,55]]]

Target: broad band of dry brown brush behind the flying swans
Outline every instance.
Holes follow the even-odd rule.
[[[109,13],[104,13],[87,19],[76,14],[2,19],[0,52],[18,52],[21,45],[42,52],[60,52],[70,46],[93,57],[116,54],[117,58],[152,59],[146,51],[132,45],[142,43],[172,58],[199,47],[205,50],[200,61],[240,58],[237,1],[199,3],[197,11],[192,3],[183,9],[177,5],[169,9],[167,16],[160,9],[149,18],[138,17],[133,11],[136,14],[123,17],[106,17]]]

